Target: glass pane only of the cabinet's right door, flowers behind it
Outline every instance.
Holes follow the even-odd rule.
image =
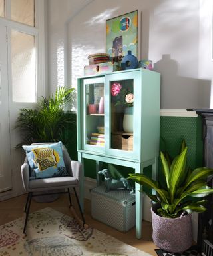
[[[133,151],[134,79],[110,81],[110,148]]]

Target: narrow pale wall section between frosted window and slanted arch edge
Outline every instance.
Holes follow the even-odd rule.
[[[47,31],[48,31],[48,76],[49,93],[55,91],[57,85],[67,83],[67,56],[70,49],[67,47],[67,22],[89,0],[47,0]]]

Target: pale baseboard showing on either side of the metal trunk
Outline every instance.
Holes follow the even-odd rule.
[[[95,179],[91,179],[89,177],[85,177],[85,198],[91,200],[91,189],[96,187],[97,183]],[[152,217],[150,213],[151,209],[151,201],[147,195],[143,196],[143,214],[142,219],[144,221],[152,222]]]

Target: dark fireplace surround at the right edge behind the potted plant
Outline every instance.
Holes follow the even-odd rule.
[[[213,168],[213,109],[192,109],[202,117],[202,139],[204,142],[203,165]],[[213,175],[208,179],[213,187]],[[199,214],[198,247],[202,255],[213,256],[213,195],[208,196],[207,210]]]

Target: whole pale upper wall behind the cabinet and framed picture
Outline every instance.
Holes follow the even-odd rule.
[[[210,2],[48,0],[50,91],[57,84],[75,86],[87,56],[105,52],[107,19],[138,9],[142,11],[139,59],[152,59],[162,75],[161,108],[210,107]]]

